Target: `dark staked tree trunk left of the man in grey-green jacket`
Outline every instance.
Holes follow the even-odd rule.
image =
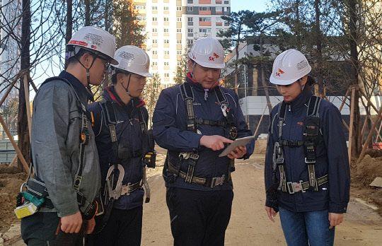
[[[25,71],[27,77],[30,77],[30,0],[23,0],[23,20],[21,22],[21,71]],[[28,132],[28,116],[26,113],[25,90],[23,86],[23,77],[20,79],[18,94],[18,119],[17,134],[18,148],[20,148],[25,161],[30,163],[30,141]],[[28,86],[29,88],[29,86]],[[18,160],[18,168],[23,170],[23,164]]]

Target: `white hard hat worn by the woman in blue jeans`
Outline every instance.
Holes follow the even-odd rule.
[[[311,70],[308,60],[301,52],[288,49],[274,59],[270,82],[287,86],[308,75]]]

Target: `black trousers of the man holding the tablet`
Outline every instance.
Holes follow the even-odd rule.
[[[166,201],[174,245],[224,245],[232,200],[229,189],[204,192],[168,187]]]

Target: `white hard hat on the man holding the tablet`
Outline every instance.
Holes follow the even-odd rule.
[[[194,42],[188,57],[200,66],[224,69],[224,49],[214,37],[202,37]]]

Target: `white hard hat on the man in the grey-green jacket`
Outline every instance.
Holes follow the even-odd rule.
[[[115,37],[105,30],[95,26],[84,26],[71,36],[68,46],[75,49],[71,51],[68,57],[72,57],[83,48],[96,54],[103,54],[110,60],[111,64],[118,64],[114,59]]]

